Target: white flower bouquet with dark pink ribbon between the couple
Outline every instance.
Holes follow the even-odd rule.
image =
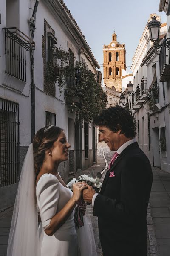
[[[81,169],[79,169],[78,171],[81,172]],[[101,187],[102,187],[102,183],[100,182],[102,175],[100,172],[97,173],[97,176],[94,178],[94,172],[92,171],[89,175],[80,175],[78,177],[78,179],[73,178],[70,182],[68,182],[67,186],[73,191],[73,184],[77,183],[79,181],[85,181],[88,185],[92,186],[96,192],[99,192]],[[82,215],[82,210],[80,208],[80,206],[84,203],[83,199],[81,202],[79,202],[79,204],[76,207],[75,210],[75,214],[74,214],[74,222],[75,222],[75,226],[76,227],[82,227],[84,226],[84,222],[83,222],[83,215]]]

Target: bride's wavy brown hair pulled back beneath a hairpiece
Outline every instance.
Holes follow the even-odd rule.
[[[50,128],[43,127],[35,134],[32,144],[36,177],[39,174],[44,161],[45,151],[52,147],[62,131],[63,130],[60,127],[51,126]]]

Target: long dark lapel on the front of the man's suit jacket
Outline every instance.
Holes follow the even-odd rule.
[[[138,143],[137,142],[134,142],[132,144],[130,144],[129,146],[127,146],[127,148],[125,148],[122,153],[119,155],[119,157],[116,158],[116,160],[114,161],[113,165],[111,166],[111,169],[107,171],[106,175],[105,175],[105,179],[103,180],[103,184],[102,184],[102,188],[101,188],[101,191],[100,191],[100,194],[103,194],[103,192],[105,191],[105,187],[106,187],[106,184],[108,182],[108,179],[109,179],[109,175],[110,175],[110,172],[113,171],[113,169],[115,168],[115,166],[119,163],[119,161],[125,156],[126,152],[128,150],[131,150],[132,148],[134,147],[139,147]]]

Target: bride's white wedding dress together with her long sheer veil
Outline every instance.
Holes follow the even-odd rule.
[[[78,230],[72,212],[53,236],[44,232],[44,227],[71,197],[72,191],[52,174],[42,175],[35,189],[33,145],[30,144],[17,189],[7,256],[97,256],[91,220],[86,216],[84,227]],[[42,220],[39,227],[37,212]]]

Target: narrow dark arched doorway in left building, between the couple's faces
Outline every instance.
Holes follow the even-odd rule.
[[[77,169],[80,168],[80,132],[79,132],[79,121],[76,119],[75,121],[75,129],[74,129],[74,137],[75,137],[75,151],[76,151],[76,172]]]

